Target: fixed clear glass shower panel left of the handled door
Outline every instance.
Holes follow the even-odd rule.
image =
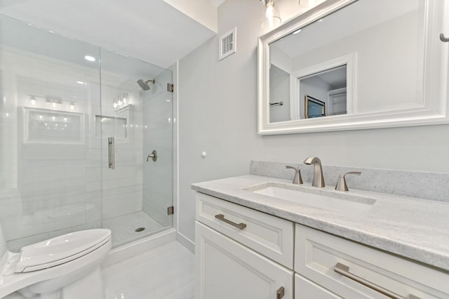
[[[98,55],[0,15],[0,221],[10,251],[100,224]]]

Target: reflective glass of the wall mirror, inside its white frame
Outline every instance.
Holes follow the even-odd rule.
[[[424,2],[355,1],[269,44],[269,122],[423,105]]]

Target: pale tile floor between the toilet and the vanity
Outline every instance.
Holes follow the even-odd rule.
[[[105,299],[194,298],[194,254],[176,241],[105,267],[102,273]],[[13,293],[4,299],[25,297]]]

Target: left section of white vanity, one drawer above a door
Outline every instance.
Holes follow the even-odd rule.
[[[293,299],[293,270],[274,260],[293,268],[292,222],[201,193],[196,207],[196,299]]]

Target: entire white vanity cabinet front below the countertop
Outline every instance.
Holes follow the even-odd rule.
[[[199,192],[195,241],[196,299],[449,298],[448,272]]]

